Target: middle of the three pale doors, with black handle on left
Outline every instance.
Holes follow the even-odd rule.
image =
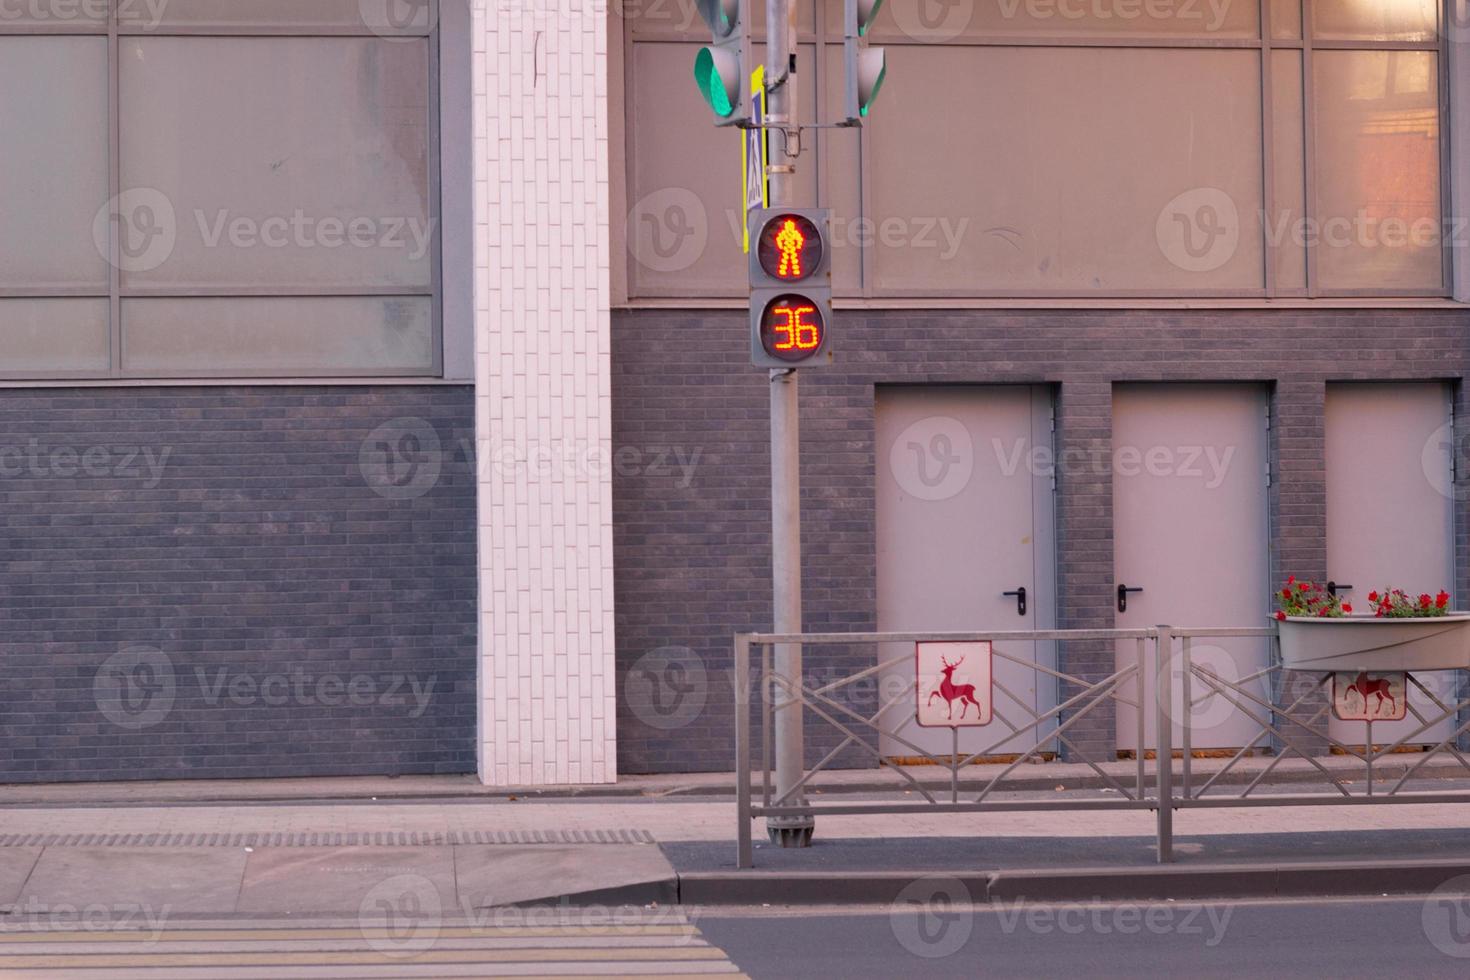
[[[1266,389],[1257,385],[1113,389],[1110,598],[1116,601],[1119,586],[1141,589],[1125,594],[1125,610],[1116,613],[1119,629],[1267,624],[1267,422]],[[1154,746],[1155,732],[1151,646],[1145,748]],[[1120,669],[1136,661],[1136,649],[1133,641],[1119,642]],[[1255,696],[1267,693],[1269,682],[1251,680],[1267,663],[1264,639],[1198,639],[1191,657],[1223,680],[1248,682]],[[1185,718],[1191,748],[1264,741],[1257,721],[1211,695],[1204,682],[1191,683],[1189,711],[1179,702],[1172,713],[1175,748]],[[1177,691],[1176,685],[1176,701]],[[1117,710],[1117,742],[1120,749],[1139,748],[1138,713],[1126,704]]]

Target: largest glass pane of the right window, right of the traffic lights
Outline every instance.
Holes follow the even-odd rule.
[[[879,289],[1264,287],[1255,51],[904,46],[888,59],[867,129]]]

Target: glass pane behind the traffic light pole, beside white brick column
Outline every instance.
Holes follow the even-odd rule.
[[[632,46],[628,113],[628,289],[642,295],[742,295],[741,134],[711,123],[694,85],[698,46]],[[763,57],[764,46],[756,46]],[[816,50],[803,44],[800,72],[814,78]],[[807,119],[816,85],[800,87]],[[816,200],[816,154],[797,167],[795,200]]]

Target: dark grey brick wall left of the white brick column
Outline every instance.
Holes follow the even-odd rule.
[[[473,771],[472,433],[466,386],[0,392],[0,782]]]

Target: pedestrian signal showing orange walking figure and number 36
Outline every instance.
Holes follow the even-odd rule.
[[[757,367],[825,363],[832,325],[831,212],[751,213],[750,360]]]

